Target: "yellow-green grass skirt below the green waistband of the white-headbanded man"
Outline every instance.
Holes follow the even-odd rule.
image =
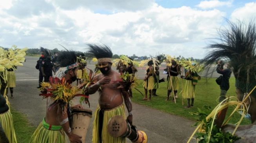
[[[67,143],[63,129],[49,130],[46,129],[44,125],[49,126],[49,124],[43,120],[31,136],[30,143]]]

